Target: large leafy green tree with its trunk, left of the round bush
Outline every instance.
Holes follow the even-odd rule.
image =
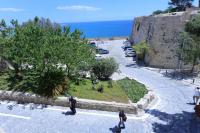
[[[6,52],[3,56],[13,62],[16,77],[33,76],[35,84],[46,88],[44,83],[47,86],[51,81],[56,83],[55,75],[70,78],[78,71],[82,62],[93,62],[92,49],[78,30],[71,32],[70,28],[62,29],[59,24],[38,17],[21,25],[17,21],[12,21],[12,24],[12,34],[4,43]],[[41,82],[44,78],[45,82]],[[65,78],[59,79],[62,81],[57,83],[65,82]],[[56,87],[54,83],[52,86],[52,89]],[[56,91],[50,94],[57,94],[54,92]]]

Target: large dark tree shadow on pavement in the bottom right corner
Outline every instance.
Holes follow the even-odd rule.
[[[152,124],[155,133],[200,133],[200,120],[194,113],[182,112],[167,114],[159,110],[146,110],[146,113],[157,117],[162,122]]]

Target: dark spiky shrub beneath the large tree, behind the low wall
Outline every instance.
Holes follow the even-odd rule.
[[[36,93],[46,97],[56,97],[69,88],[69,81],[63,71],[49,70],[39,78],[39,88]]]

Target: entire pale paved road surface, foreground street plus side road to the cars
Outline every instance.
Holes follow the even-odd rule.
[[[122,43],[116,40],[99,44],[110,51],[104,57],[114,57],[119,63],[120,72],[112,78],[134,78],[159,97],[142,117],[128,115],[122,133],[200,133],[200,120],[191,104],[195,85],[136,65],[124,56]],[[12,109],[8,109],[10,104],[14,105]],[[0,133],[115,133],[119,122],[118,113],[113,112],[78,109],[76,115],[70,115],[68,108],[31,106],[1,102]]]

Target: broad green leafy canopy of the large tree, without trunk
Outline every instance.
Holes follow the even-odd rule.
[[[69,76],[81,62],[89,63],[93,53],[78,30],[70,32],[49,19],[37,18],[22,25],[15,25],[14,35],[6,44],[4,56],[17,64],[18,68],[28,64],[42,72],[45,68],[56,69],[66,65]]]

